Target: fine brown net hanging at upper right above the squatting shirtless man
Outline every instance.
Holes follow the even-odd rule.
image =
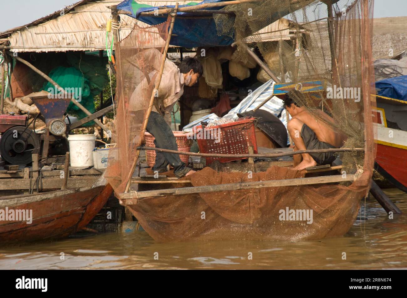
[[[372,61],[373,1],[258,0],[223,10],[236,17],[214,15],[218,34],[234,37],[243,61],[246,45],[257,47],[282,83],[298,82],[296,102],[344,134],[345,147],[364,147],[363,96],[374,83],[364,64]],[[279,59],[267,59],[272,56]],[[323,90],[307,92],[315,86],[301,82],[312,80],[321,81]],[[363,154],[339,155],[347,172],[363,165]]]

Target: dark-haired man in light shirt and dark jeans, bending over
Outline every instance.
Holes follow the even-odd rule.
[[[132,111],[139,111],[148,107],[162,61],[161,52],[155,48],[145,50],[139,55],[142,55],[138,57],[139,61],[142,61],[141,64],[148,65],[145,68],[151,68],[151,71],[144,74],[145,78],[141,80],[131,95],[129,109]],[[202,64],[196,58],[186,57],[179,66],[166,59],[160,87],[155,92],[154,105],[147,123],[147,131],[155,137],[155,147],[178,150],[177,142],[170,128],[171,111],[184,93],[184,85],[189,87],[195,85],[203,72]],[[166,172],[167,165],[170,164],[174,167],[174,174],[177,178],[189,176],[195,172],[181,161],[179,154],[159,151],[155,153],[153,171]]]

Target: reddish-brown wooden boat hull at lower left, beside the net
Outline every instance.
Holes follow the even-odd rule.
[[[0,198],[0,212],[5,212],[6,207],[8,210],[32,210],[32,222],[1,220],[0,243],[59,239],[76,233],[102,209],[112,191],[106,184],[85,190],[4,196]]]

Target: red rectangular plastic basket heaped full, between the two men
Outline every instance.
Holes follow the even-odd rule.
[[[221,153],[221,154],[244,154],[249,153],[249,146],[253,146],[254,153],[257,153],[256,133],[254,132],[255,118],[244,119],[236,122],[210,126],[204,129],[204,132],[217,128],[220,130],[220,141],[214,138],[202,139],[199,137],[199,130],[202,126],[197,126],[194,133],[197,133],[197,143],[202,153]],[[216,132],[218,134],[219,131]],[[204,133],[204,135],[209,135]],[[206,157],[206,164],[214,161],[226,163],[242,158],[234,157]]]

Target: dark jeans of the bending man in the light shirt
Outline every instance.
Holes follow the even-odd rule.
[[[178,150],[177,141],[170,126],[160,114],[151,112],[147,123],[147,131],[155,137],[156,148]],[[174,167],[174,174],[180,178],[189,172],[190,168],[179,158],[179,154],[155,151],[155,165],[153,171],[163,170],[168,163]]]

